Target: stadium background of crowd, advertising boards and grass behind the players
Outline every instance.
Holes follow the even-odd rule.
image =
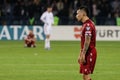
[[[50,51],[44,49],[39,20],[47,4],[52,4],[58,21],[53,27],[53,33],[57,32],[54,39],[67,38],[51,41]],[[59,0],[0,0],[0,80],[81,80],[77,63],[81,23],[74,13],[83,4],[89,6],[101,39],[96,45],[98,58],[92,78],[120,80],[120,1],[63,0],[58,4]],[[36,48],[24,48],[22,38],[28,29],[37,36],[42,34]]]

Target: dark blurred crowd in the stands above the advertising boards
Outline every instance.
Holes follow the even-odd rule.
[[[0,23],[29,24],[34,18],[34,24],[40,24],[48,4],[60,25],[76,24],[74,13],[81,5],[89,7],[97,25],[115,25],[115,18],[120,17],[120,0],[0,0]]]

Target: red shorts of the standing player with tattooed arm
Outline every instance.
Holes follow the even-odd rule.
[[[96,49],[92,49],[88,51],[86,54],[86,63],[80,64],[80,73],[81,74],[92,74],[94,71],[95,63],[96,63],[97,52]]]

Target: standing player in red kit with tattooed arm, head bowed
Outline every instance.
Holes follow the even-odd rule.
[[[76,18],[83,23],[81,36],[81,51],[78,57],[80,64],[80,73],[83,74],[83,80],[92,80],[90,74],[93,73],[97,51],[96,51],[96,29],[94,23],[88,17],[89,10],[81,6],[77,10]]]

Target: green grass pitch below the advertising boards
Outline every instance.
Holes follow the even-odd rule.
[[[77,58],[79,41],[44,42],[24,48],[23,41],[0,41],[0,80],[82,80]],[[98,41],[93,80],[120,80],[120,42]]]

